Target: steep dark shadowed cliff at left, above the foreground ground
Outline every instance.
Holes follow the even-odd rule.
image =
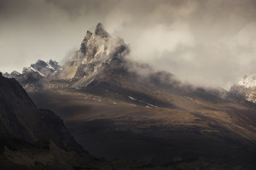
[[[52,139],[65,150],[84,150],[77,144],[55,113],[38,110],[14,78],[0,75],[0,136],[34,141]],[[84,152],[85,153],[85,152]]]

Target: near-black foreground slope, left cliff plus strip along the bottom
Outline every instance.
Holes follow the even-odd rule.
[[[74,143],[60,117],[51,111],[38,111],[15,79],[0,75],[0,101],[0,163],[3,170],[187,169],[198,167],[199,164],[207,169],[229,168],[206,159],[181,161],[172,166],[158,167],[141,161],[104,161],[90,156],[81,157],[72,151],[79,149],[81,152],[81,148]],[[38,139],[41,140],[33,144],[26,141]]]

